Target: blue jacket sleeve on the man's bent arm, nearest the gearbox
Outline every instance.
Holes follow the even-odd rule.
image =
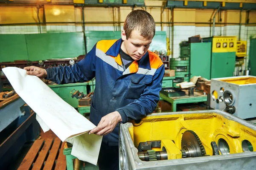
[[[159,92],[162,89],[163,75],[164,65],[161,65],[155,72],[152,83],[145,88],[140,98],[116,110],[122,117],[122,123],[132,119],[141,119],[143,116],[155,110],[157,102],[160,99]]]

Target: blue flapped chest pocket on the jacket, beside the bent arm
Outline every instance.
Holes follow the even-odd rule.
[[[125,98],[127,99],[139,99],[140,95],[147,85],[151,84],[153,76],[143,74],[131,75],[131,81],[129,82],[128,89],[125,92]]]

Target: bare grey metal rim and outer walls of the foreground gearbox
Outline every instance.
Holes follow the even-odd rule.
[[[189,113],[217,113],[226,119],[236,121],[241,125],[256,130],[256,126],[242,119],[230,115],[224,111],[188,111]],[[169,114],[184,114],[184,112],[151,113],[148,116],[159,116]],[[137,154],[128,127],[132,123],[121,124],[119,128],[119,169],[120,170],[255,170],[256,152],[234,153],[228,155],[204,156],[196,158],[172,159],[162,161],[141,161]]]

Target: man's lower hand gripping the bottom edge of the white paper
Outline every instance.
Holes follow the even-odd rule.
[[[118,111],[108,113],[106,116],[102,117],[97,127],[90,130],[89,134],[107,135],[113,131],[119,122],[122,122],[122,117]]]

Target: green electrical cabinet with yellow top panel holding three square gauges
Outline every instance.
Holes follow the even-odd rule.
[[[203,42],[210,42],[211,65],[210,79],[232,77],[236,65],[236,37],[209,37]]]

